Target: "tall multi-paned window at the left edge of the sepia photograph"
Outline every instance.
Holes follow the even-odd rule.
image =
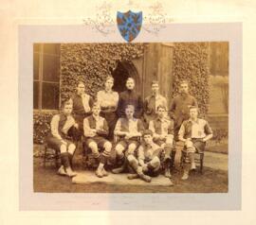
[[[60,106],[60,44],[34,43],[33,108],[58,110]]]

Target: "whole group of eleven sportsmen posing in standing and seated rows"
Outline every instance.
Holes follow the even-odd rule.
[[[74,95],[52,117],[46,144],[60,151],[58,174],[77,175],[71,161],[75,143],[82,141],[98,164],[95,174],[99,178],[108,176],[106,165],[114,152],[112,173],[129,171],[128,179],[145,182],[163,173],[171,180],[176,144],[183,142],[186,166],[181,179],[187,180],[196,166],[195,153],[204,151],[212,138],[208,121],[198,118],[197,101],[189,94],[188,81],[180,81],[179,95],[174,96],[169,109],[166,98],[159,94],[157,80],[152,81],[152,93],[144,102],[135,91],[134,78],[127,78],[124,92],[113,91],[113,85],[114,78],[107,77],[104,90],[92,97],[79,81]]]

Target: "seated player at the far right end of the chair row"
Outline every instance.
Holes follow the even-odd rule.
[[[204,119],[199,119],[198,108],[190,107],[190,119],[185,120],[178,132],[179,140],[185,143],[187,156],[191,164],[185,166],[182,180],[189,178],[189,171],[195,169],[194,153],[205,150],[206,142],[212,138],[212,130],[209,123]]]

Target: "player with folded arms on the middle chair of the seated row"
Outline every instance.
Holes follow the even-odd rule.
[[[126,155],[134,154],[139,145],[138,139],[141,137],[144,127],[141,120],[134,117],[134,113],[135,107],[127,105],[125,108],[126,117],[119,118],[114,130],[114,134],[119,138],[119,143],[115,147],[117,160],[122,162],[122,165],[113,169],[113,173],[121,173],[125,169],[127,164],[125,153]]]

